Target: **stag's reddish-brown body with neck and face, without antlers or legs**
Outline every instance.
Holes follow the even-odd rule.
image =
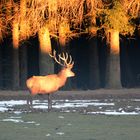
[[[63,87],[68,77],[74,76],[74,73],[64,68],[58,74],[46,76],[33,76],[26,81],[26,85],[32,95],[51,94]]]

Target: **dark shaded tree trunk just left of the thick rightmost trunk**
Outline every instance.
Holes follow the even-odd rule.
[[[99,56],[97,38],[91,38],[89,42],[89,87],[96,89],[100,87]]]

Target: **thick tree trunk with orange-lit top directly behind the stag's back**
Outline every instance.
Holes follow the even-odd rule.
[[[39,71],[40,75],[47,75],[54,73],[54,61],[49,56],[51,53],[51,39],[50,34],[47,28],[42,28],[39,33]]]

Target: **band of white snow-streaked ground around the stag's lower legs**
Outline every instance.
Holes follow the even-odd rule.
[[[0,112],[47,112],[47,100],[33,100],[28,106],[26,100],[0,101]],[[140,115],[140,99],[102,99],[102,100],[52,100],[52,111],[79,112],[94,115]]]

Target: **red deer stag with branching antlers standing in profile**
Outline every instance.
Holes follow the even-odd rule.
[[[50,74],[46,76],[32,76],[26,81],[27,88],[29,89],[31,95],[48,95],[48,110],[52,107],[50,94],[63,87],[68,77],[75,76],[75,74],[71,71],[74,62],[68,53],[59,54],[58,59],[56,57],[56,51],[53,51],[53,53],[49,55],[55,60],[55,62],[63,67],[61,71],[57,74]]]

